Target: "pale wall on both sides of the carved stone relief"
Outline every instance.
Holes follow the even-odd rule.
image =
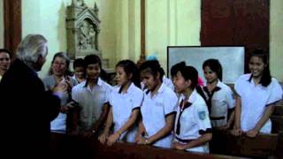
[[[66,51],[65,9],[72,0],[22,0],[22,35],[42,34],[49,41],[49,55],[42,67],[40,76],[44,77],[54,54]],[[95,2],[99,8],[101,19],[101,33],[99,37],[103,58],[111,58],[116,54],[116,0],[85,0],[88,7],[94,7]]]

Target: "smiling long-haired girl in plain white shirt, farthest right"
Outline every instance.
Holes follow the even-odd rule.
[[[249,60],[251,73],[242,75],[235,83],[236,108],[234,135],[246,133],[255,137],[258,133],[271,133],[270,116],[275,102],[282,97],[277,79],[272,78],[267,54],[256,49]]]

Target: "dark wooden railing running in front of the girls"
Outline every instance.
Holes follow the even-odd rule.
[[[182,159],[182,158],[283,158],[283,135],[259,134],[256,138],[249,138],[244,134],[234,137],[228,131],[214,131],[210,142],[210,154],[191,153],[169,148],[140,146],[131,143],[117,142],[108,147],[100,144],[96,137],[84,138],[53,134],[59,142],[53,142],[51,148],[57,148],[54,156],[63,158],[123,158],[123,159]],[[63,139],[63,140],[62,140]],[[54,141],[54,140],[53,140]]]

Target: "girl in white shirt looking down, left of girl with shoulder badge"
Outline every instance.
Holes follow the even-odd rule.
[[[141,65],[140,73],[147,89],[144,90],[142,121],[135,140],[138,144],[170,148],[177,96],[162,83],[164,74],[158,63],[146,61]]]

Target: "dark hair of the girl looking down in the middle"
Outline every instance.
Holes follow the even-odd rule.
[[[140,67],[140,72],[149,72],[154,77],[157,77],[157,73],[159,73],[159,79],[161,82],[164,76],[164,70],[157,60],[149,60],[144,62]]]

